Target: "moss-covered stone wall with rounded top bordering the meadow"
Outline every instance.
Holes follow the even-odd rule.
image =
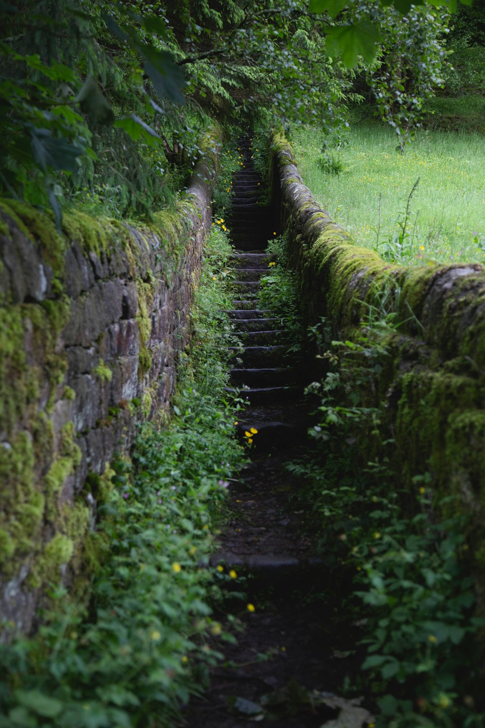
[[[394,441],[392,467],[401,485],[428,472],[436,504],[456,495],[452,507],[470,518],[468,546],[485,595],[485,270],[481,265],[394,266],[352,244],[321,210],[282,135],[273,138],[281,215],[300,273],[309,324],[321,317],[334,339],[354,339],[369,306],[385,294],[398,327],[385,336],[388,355],[361,401],[379,406],[385,434]],[[389,311],[389,303],[387,311]],[[358,386],[358,385],[356,385]],[[379,444],[361,441],[366,462],[382,457]],[[414,486],[416,487],[416,486]],[[458,504],[458,505],[457,505]],[[437,506],[438,507],[438,506]],[[482,606],[485,600],[482,599]]]

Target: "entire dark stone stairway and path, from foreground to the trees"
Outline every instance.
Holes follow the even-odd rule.
[[[280,320],[260,306],[260,278],[271,270],[265,249],[278,229],[273,210],[262,204],[250,140],[240,146],[244,167],[233,181],[229,221],[236,280],[228,314],[241,344],[233,347],[231,379],[248,402],[239,413],[239,437],[246,440],[251,428],[257,434],[248,464],[228,488],[230,515],[210,563],[236,575],[230,584],[236,592],[246,577],[242,589],[251,609],[240,599],[230,606],[229,589],[227,609],[238,614],[244,632],[237,644],[222,646],[227,662],[211,670],[211,686],[189,706],[184,728],[247,728],[251,701],[264,702],[268,692],[285,695],[297,689],[310,695],[313,689],[335,689],[344,676],[342,661],[333,657],[333,612],[326,614],[318,601],[331,581],[330,571],[308,533],[305,507],[295,497],[302,483],[285,469],[289,460],[305,457],[310,419],[303,390],[310,361],[303,365],[289,355]],[[235,696],[241,711],[231,708]],[[276,725],[320,728],[329,717],[335,717],[332,711],[308,711],[303,705],[301,711],[286,711]]]

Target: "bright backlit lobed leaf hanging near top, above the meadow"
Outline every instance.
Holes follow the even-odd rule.
[[[340,55],[342,63],[348,68],[357,65],[358,56],[370,63],[377,52],[380,31],[368,20],[353,25],[332,28],[326,36],[326,52],[333,58]]]

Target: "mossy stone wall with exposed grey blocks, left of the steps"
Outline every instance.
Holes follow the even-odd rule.
[[[145,226],[72,213],[61,235],[49,215],[0,201],[0,623],[20,631],[49,582],[82,589],[113,454],[138,423],[167,419],[210,226],[215,132],[201,149],[188,193]]]

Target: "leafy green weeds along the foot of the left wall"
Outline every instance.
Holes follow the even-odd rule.
[[[209,568],[209,553],[243,462],[216,324],[228,296],[213,273],[229,250],[213,233],[172,422],[141,427],[132,459],[92,478],[103,505],[87,613],[53,589],[38,635],[0,646],[2,728],[168,728],[220,657],[212,605],[232,579]],[[222,336],[231,341],[228,323]]]

